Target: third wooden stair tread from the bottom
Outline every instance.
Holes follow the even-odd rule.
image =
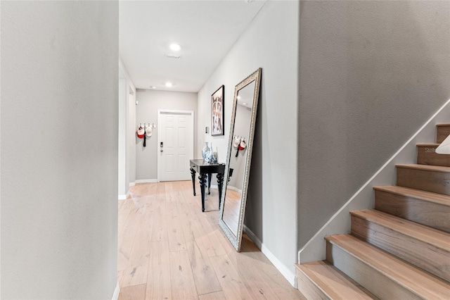
[[[418,239],[427,244],[432,244],[437,248],[450,251],[450,234],[447,232],[443,232],[425,225],[420,225],[388,213],[375,211],[375,209],[351,211],[350,213],[370,222],[383,225],[384,227],[389,227],[394,231],[401,232],[404,235],[413,237],[414,239]]]

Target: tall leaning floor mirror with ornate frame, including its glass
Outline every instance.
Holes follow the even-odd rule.
[[[243,235],[261,72],[259,68],[234,89],[219,226],[237,251]]]

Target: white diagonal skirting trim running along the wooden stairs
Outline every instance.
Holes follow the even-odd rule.
[[[419,130],[304,244],[298,251],[298,263],[322,261],[326,258],[325,237],[350,232],[350,211],[373,208],[375,199],[373,187],[377,185],[396,185],[395,165],[416,163],[416,144],[430,142],[436,137],[436,125],[449,123],[450,99],[423,124]]]

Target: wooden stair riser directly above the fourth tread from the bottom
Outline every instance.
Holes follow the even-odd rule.
[[[397,166],[397,185],[450,195],[450,173]]]

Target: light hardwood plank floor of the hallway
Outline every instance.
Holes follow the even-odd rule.
[[[119,201],[119,299],[305,299],[247,236],[233,249],[217,225],[217,189],[205,213],[191,181],[130,195]]]

